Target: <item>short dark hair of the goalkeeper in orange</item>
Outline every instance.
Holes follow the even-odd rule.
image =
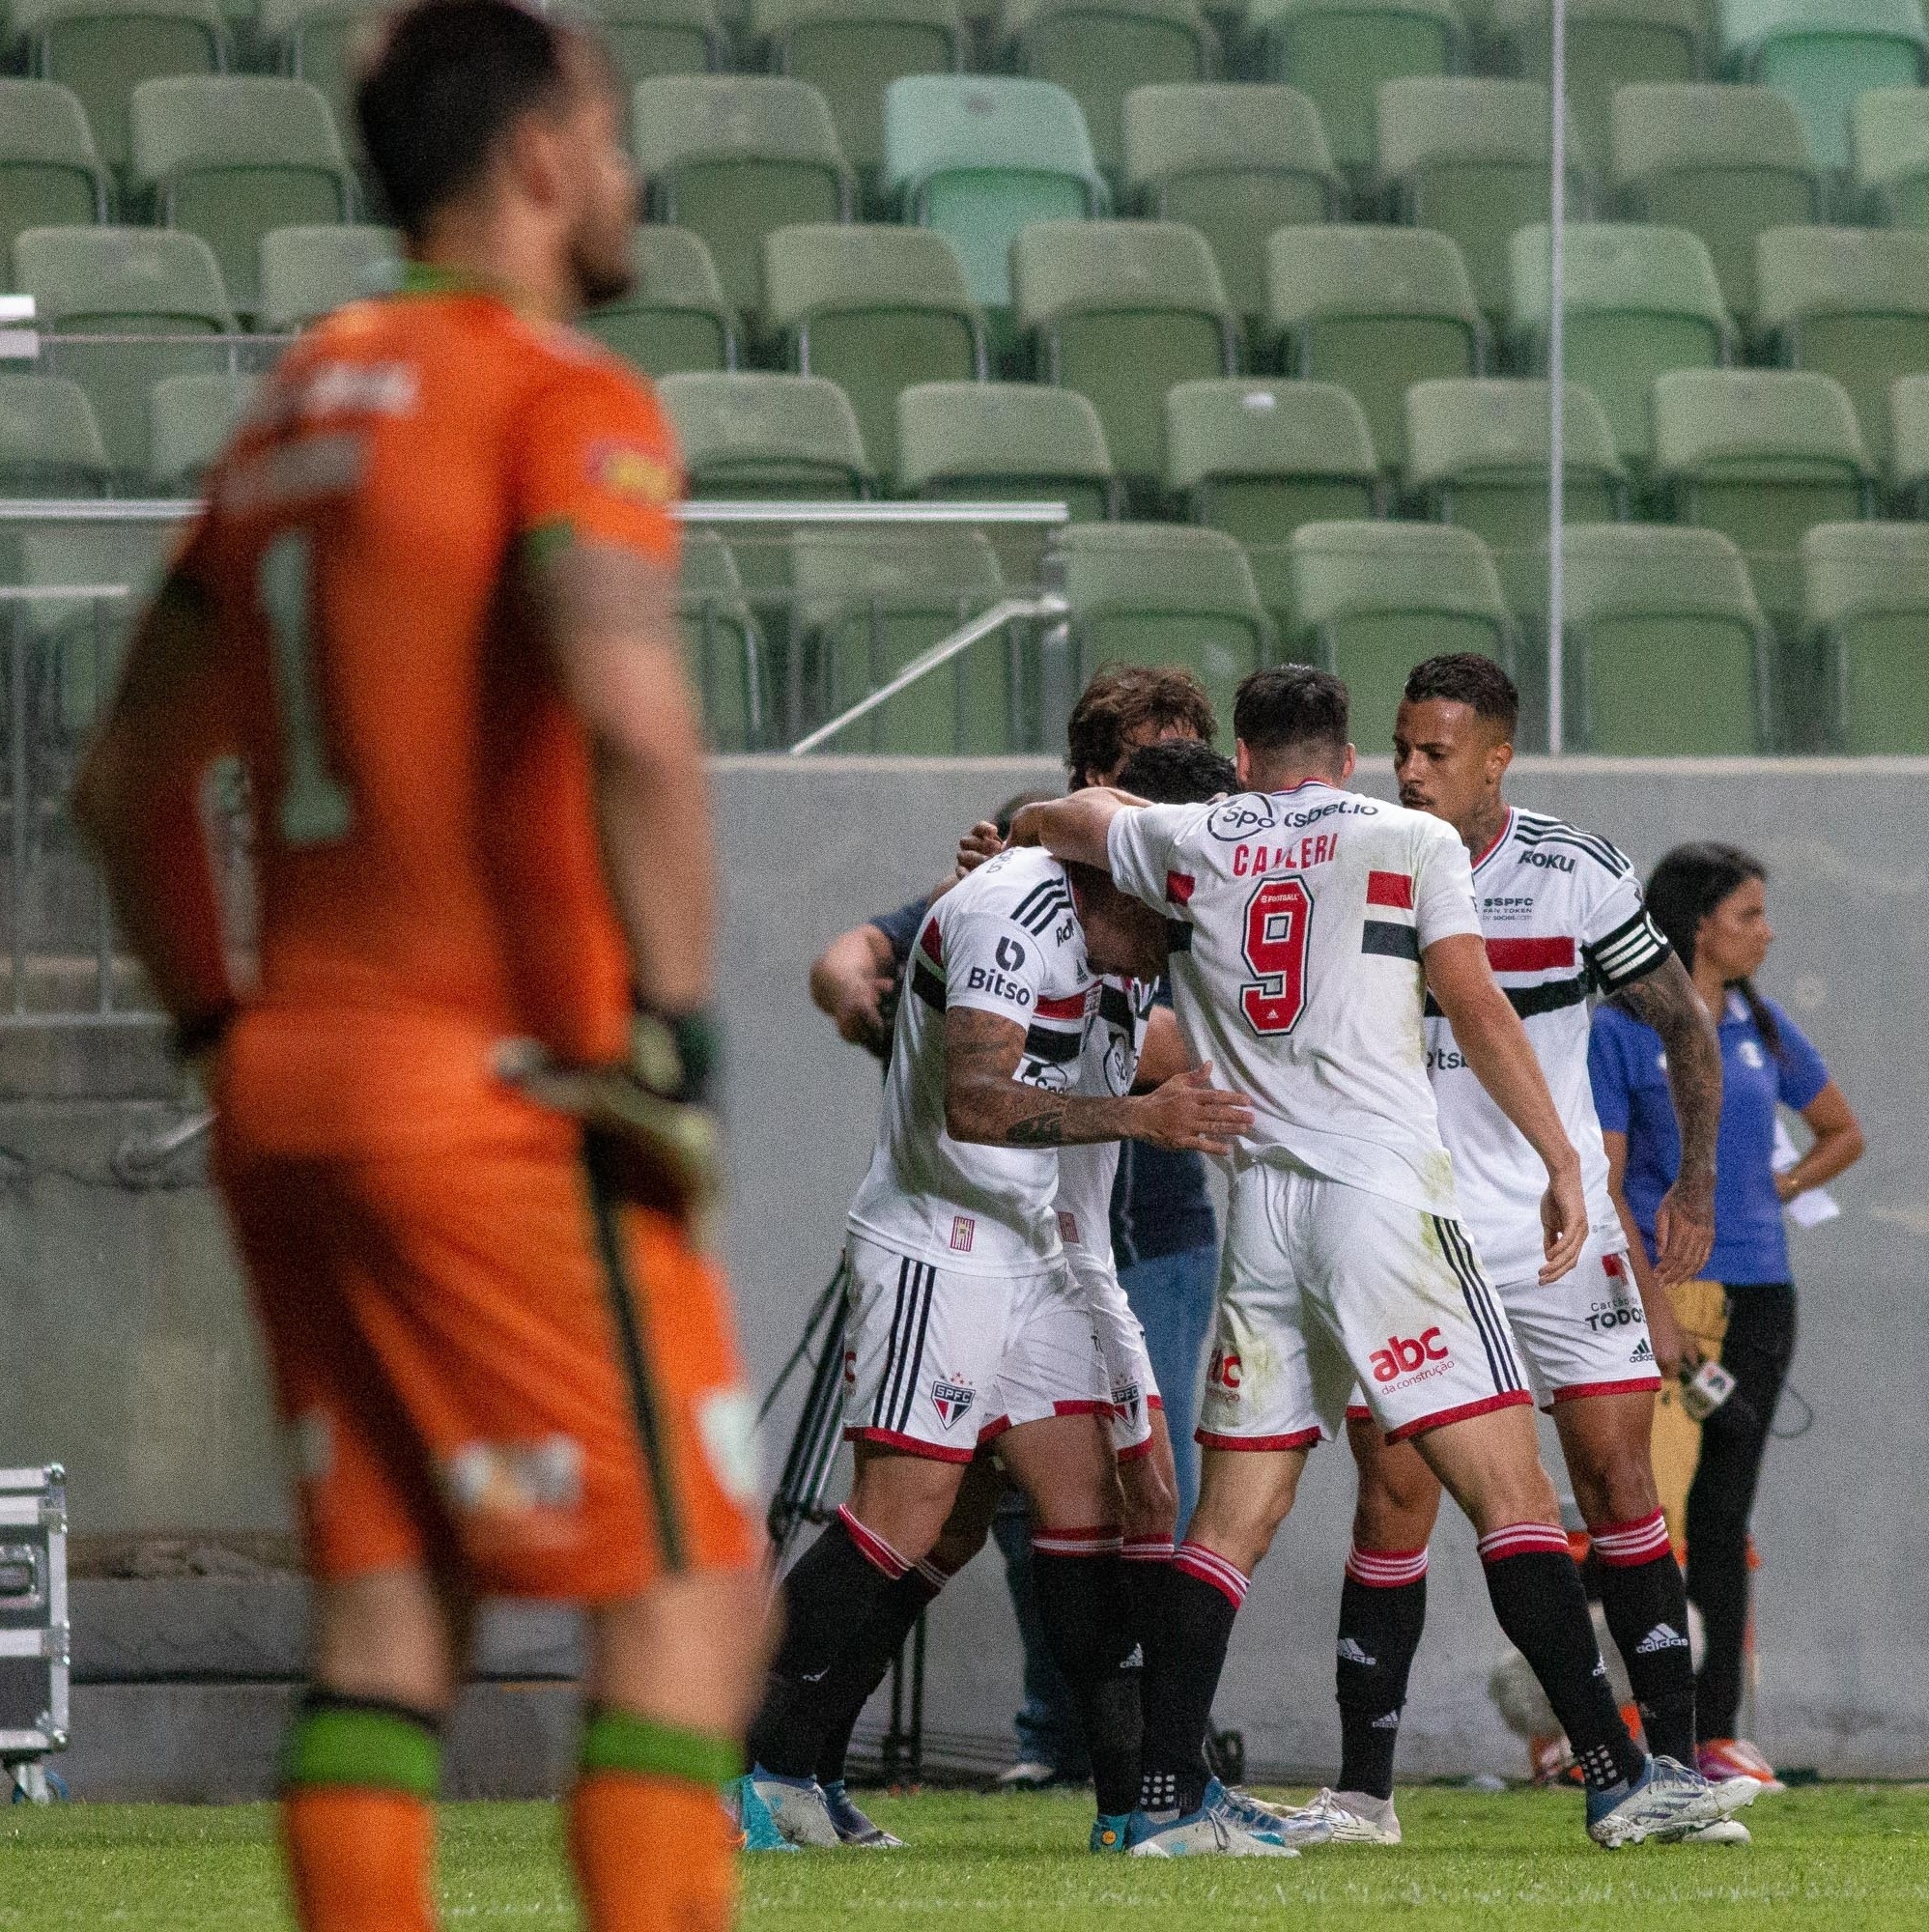
[[[524,114],[570,89],[570,35],[514,0],[419,0],[356,87],[389,216],[412,240],[481,178]]]

